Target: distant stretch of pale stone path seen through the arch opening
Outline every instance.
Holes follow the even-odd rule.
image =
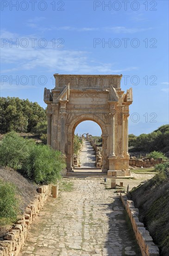
[[[82,168],[95,168],[96,156],[93,147],[89,141],[83,141],[83,147],[79,155]]]

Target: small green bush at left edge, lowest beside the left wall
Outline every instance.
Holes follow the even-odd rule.
[[[0,226],[15,222],[19,213],[16,187],[0,180]]]

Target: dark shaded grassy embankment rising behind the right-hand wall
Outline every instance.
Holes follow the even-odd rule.
[[[133,188],[128,197],[139,209],[140,221],[149,230],[160,255],[169,256],[169,168]]]

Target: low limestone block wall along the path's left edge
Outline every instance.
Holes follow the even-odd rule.
[[[24,216],[6,234],[4,240],[0,241],[0,256],[17,256],[21,246],[25,243],[27,231],[35,216],[44,206],[44,202],[51,194],[51,185],[38,188],[39,195],[35,196],[25,209]]]

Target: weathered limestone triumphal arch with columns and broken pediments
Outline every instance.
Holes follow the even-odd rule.
[[[120,88],[122,75],[54,74],[55,88],[44,89],[47,104],[47,143],[66,157],[67,170],[73,163],[73,140],[81,121],[95,121],[102,130],[102,172],[130,175],[128,116],[132,88]]]

